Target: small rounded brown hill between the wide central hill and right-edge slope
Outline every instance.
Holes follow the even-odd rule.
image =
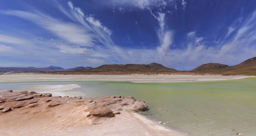
[[[224,64],[219,64],[219,63],[208,63],[208,64],[202,64],[201,66],[196,67],[191,71],[209,71],[209,70],[217,70],[217,69],[226,68],[226,67],[229,67],[229,66]]]

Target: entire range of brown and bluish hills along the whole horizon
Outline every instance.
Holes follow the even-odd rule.
[[[161,64],[105,64],[96,68],[75,67],[63,69],[61,67],[0,67],[0,72],[24,71],[24,72],[51,72],[52,74],[221,74],[221,75],[256,75],[256,57],[250,58],[240,64],[228,66],[219,63],[202,64],[190,71],[178,71]]]

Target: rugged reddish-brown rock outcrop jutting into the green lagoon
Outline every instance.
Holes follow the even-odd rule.
[[[0,116],[12,112],[16,108],[33,108],[42,105],[54,108],[63,104],[86,105],[87,108],[84,109],[84,112],[88,112],[86,118],[90,119],[93,124],[105,122],[109,118],[115,117],[115,114],[120,114],[119,111],[122,110],[139,112],[148,107],[145,102],[136,100],[134,97],[53,97],[50,93],[13,92],[12,90],[0,92]]]

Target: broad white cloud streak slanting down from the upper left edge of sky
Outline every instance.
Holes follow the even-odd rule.
[[[14,10],[2,11],[2,13],[27,19],[38,26],[51,31],[56,36],[59,36],[68,42],[82,44],[83,46],[92,45],[93,37],[88,33],[87,30],[81,28],[79,25],[61,22],[42,13],[30,13],[26,11]]]

